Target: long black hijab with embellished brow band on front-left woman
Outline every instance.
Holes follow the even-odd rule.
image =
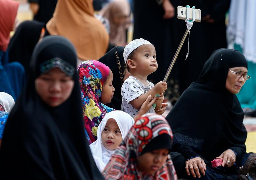
[[[52,63],[44,71],[46,61]],[[54,67],[72,77],[74,88],[67,101],[53,108],[36,93],[35,79]],[[27,84],[6,122],[1,179],[103,179],[84,134],[74,46],[60,36],[44,38],[33,52]]]

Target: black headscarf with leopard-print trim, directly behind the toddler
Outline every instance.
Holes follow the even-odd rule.
[[[116,46],[102,56],[99,61],[107,65],[113,72],[113,86],[116,89],[111,103],[106,104],[116,110],[121,110],[121,87],[124,83],[126,64],[124,62],[124,47]]]

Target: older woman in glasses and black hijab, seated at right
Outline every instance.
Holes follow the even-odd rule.
[[[249,78],[243,54],[218,49],[166,117],[174,133],[172,151],[185,157],[188,175],[237,178],[238,168],[249,154],[244,113],[235,94]],[[213,169],[211,161],[220,158],[222,166]]]

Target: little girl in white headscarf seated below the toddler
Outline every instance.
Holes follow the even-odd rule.
[[[102,119],[97,130],[98,139],[90,145],[94,161],[101,172],[133,124],[133,118],[123,111],[109,112]]]

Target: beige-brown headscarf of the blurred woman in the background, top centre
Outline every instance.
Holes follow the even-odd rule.
[[[117,45],[116,43],[126,42],[126,30],[131,25],[130,18],[131,7],[127,0],[114,0],[107,4],[99,14],[109,20],[110,23],[110,43]],[[126,20],[122,25],[114,24],[114,16],[126,16]]]

